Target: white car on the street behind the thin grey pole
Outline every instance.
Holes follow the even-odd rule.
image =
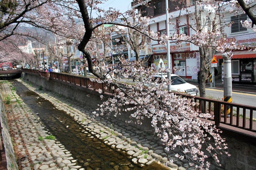
[[[157,82],[161,82],[161,79],[168,79],[167,74],[154,75],[154,81],[150,84],[145,84],[146,87],[157,86]],[[164,86],[163,90],[168,90],[168,86]],[[181,77],[175,74],[171,74],[171,92],[185,93],[196,96],[198,94],[197,86],[185,82]]]

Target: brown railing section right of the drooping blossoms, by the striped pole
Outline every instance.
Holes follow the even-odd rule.
[[[210,120],[214,121],[216,126],[225,124],[228,126],[256,132],[256,119],[254,119],[254,117],[256,117],[256,107],[208,98],[201,98],[197,96],[184,94],[179,95],[192,98],[194,102],[199,103],[198,106],[194,106],[194,110],[197,110],[201,113],[212,114]],[[228,108],[230,108],[230,112],[228,112],[230,114],[226,114],[226,110]]]

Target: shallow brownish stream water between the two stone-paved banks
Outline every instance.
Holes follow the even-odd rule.
[[[56,109],[51,102],[29,91],[20,82],[14,81],[17,94],[36,113],[46,129],[71,151],[82,168],[93,170],[166,170],[155,163],[145,167],[133,164],[131,157],[103,143],[86,131],[71,116]]]

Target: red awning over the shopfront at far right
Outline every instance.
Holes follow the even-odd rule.
[[[223,53],[216,53],[215,57],[217,59],[222,59]],[[248,51],[248,50],[242,50],[242,51],[232,51],[232,59],[234,58],[256,58],[256,51]]]

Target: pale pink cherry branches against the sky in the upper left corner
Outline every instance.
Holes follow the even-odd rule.
[[[14,40],[11,36],[19,36],[24,39],[41,41],[42,34],[52,32],[59,36],[76,37],[78,18],[76,7],[73,2],[58,0],[3,0],[0,2],[0,41],[7,43]],[[45,33],[38,33],[38,29],[45,30]],[[8,39],[9,38],[9,39]],[[8,40],[7,40],[8,39]],[[15,45],[14,45],[15,46]],[[4,49],[5,50],[5,49]],[[19,49],[15,50],[16,52]],[[8,54],[8,51],[5,51]],[[9,55],[9,59],[14,55]]]

